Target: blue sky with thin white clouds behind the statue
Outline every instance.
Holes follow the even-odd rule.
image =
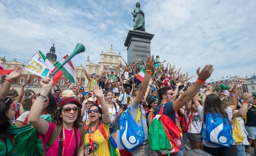
[[[85,53],[72,59],[75,67],[100,62],[111,43],[127,58],[123,46],[133,29],[131,10],[137,0],[6,0],[0,2],[0,57],[26,62],[52,42],[58,59],[73,52],[77,43]],[[155,34],[151,53],[181,72],[213,64],[210,79],[251,76],[256,63],[255,0],[143,0],[146,31]],[[81,58],[84,58],[83,60]],[[57,60],[58,60],[57,59]],[[164,65],[166,65],[166,63]]]

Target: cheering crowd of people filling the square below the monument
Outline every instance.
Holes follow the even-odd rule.
[[[110,156],[105,136],[119,137],[119,116],[128,107],[129,115],[145,134],[140,147],[130,152],[133,156],[161,155],[149,148],[149,127],[160,112],[182,131],[178,138],[181,144],[173,144],[179,150],[172,155],[245,156],[251,144],[256,155],[256,103],[251,93],[238,96],[240,84],[233,84],[228,93],[205,85],[213,72],[210,64],[198,68],[198,78],[191,83],[194,76],[185,77],[181,67],[175,69],[170,63],[164,67],[166,61],[160,61],[159,56],[142,60],[141,67],[139,61],[127,64],[123,59],[116,70],[103,69],[98,78],[84,69],[87,86],[77,82],[76,87],[69,83],[68,89],[62,89],[53,85],[52,78],[41,78],[40,93],[29,97],[24,95],[27,81],[19,96],[9,93],[12,81],[21,74],[21,67],[17,67],[6,75],[0,88],[0,156],[19,155],[15,149],[24,142],[15,142],[17,133],[11,130],[30,124],[37,132],[34,146],[38,155]],[[143,80],[138,77],[140,71],[145,71]],[[215,119],[223,122],[223,129],[231,127],[230,131],[221,134],[220,126],[211,130],[208,120],[215,123]],[[207,133],[216,133],[216,129],[216,138],[207,139]],[[233,135],[230,142],[229,135]],[[227,142],[231,143],[228,147]]]

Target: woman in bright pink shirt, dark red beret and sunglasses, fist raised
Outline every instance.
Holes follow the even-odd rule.
[[[47,93],[51,91],[53,84],[52,78],[42,78],[40,85],[42,90],[33,103],[28,121],[39,132],[39,138],[42,140],[43,149],[49,141],[55,127],[61,127],[57,140],[47,150],[46,156],[62,155],[62,156],[83,156],[83,145],[80,145],[80,133],[78,127],[82,125],[81,103],[74,98],[66,97],[58,103],[59,109],[55,110],[52,115],[52,122],[46,122],[40,118],[44,103],[47,101]],[[81,134],[84,135],[84,134]]]

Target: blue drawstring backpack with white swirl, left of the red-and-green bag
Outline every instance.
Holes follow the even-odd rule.
[[[140,112],[141,112],[141,108]],[[129,115],[130,106],[123,112],[118,119],[119,131],[120,131],[120,142],[123,147],[128,151],[133,151],[137,149],[145,139],[145,133],[143,129],[142,115],[140,119],[142,126],[138,127],[133,118]]]

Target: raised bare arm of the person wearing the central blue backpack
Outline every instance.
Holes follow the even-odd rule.
[[[149,79],[150,79],[150,74],[147,73],[147,71],[151,71],[152,70],[152,67],[153,67],[153,64],[154,64],[154,57],[147,57],[147,62],[146,62],[146,73],[145,73],[145,76],[140,84],[140,88],[139,88],[139,92],[137,94],[137,96],[135,97],[134,99],[134,102],[135,102],[135,105],[139,105],[140,104],[140,101],[142,100],[144,94],[146,93],[147,91],[147,86],[148,86],[148,83],[149,83]]]

